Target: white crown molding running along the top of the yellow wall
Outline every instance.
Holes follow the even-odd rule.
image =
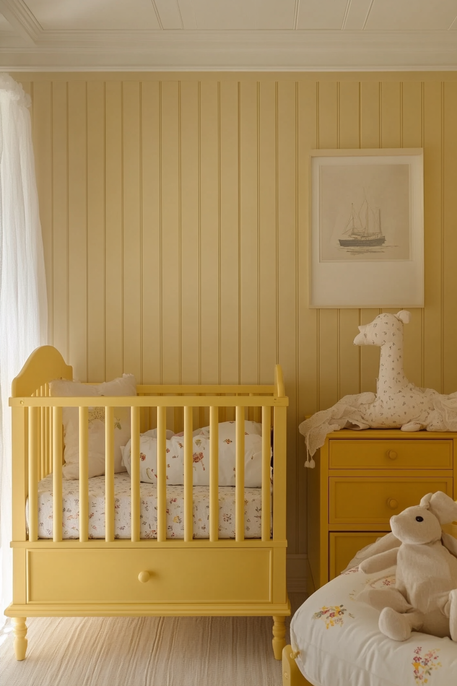
[[[457,34],[340,30],[41,31],[34,45],[2,44],[0,70],[7,69],[447,71],[457,69]]]

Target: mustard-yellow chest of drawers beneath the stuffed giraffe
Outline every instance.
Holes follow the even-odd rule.
[[[425,493],[457,497],[457,433],[342,429],[328,434],[315,462],[308,469],[310,593]]]

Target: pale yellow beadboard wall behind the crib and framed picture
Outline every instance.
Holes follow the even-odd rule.
[[[379,359],[352,344],[379,310],[308,309],[308,151],[424,148],[425,309],[405,367],[457,390],[457,74],[15,77],[32,95],[49,342],[92,381],[269,383],[280,362],[302,564],[297,425],[375,390]]]

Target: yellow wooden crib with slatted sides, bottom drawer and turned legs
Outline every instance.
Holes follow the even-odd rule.
[[[281,658],[286,593],[286,407],[280,366],[271,386],[137,386],[136,396],[104,397],[104,536],[90,534],[88,397],[50,397],[49,382],[73,379],[52,346],[37,348],[12,383],[13,618],[16,659],[27,650],[26,617],[146,615],[271,615],[273,651]],[[79,407],[77,539],[62,536],[66,484],[62,480],[62,408]],[[115,530],[116,407],[131,416],[129,539]],[[219,536],[219,422],[236,423],[234,538]],[[261,488],[255,539],[245,536],[245,421],[262,425]],[[193,537],[193,429],[209,424],[208,539]],[[156,538],[144,539],[140,485],[140,434],[157,428]],[[183,431],[184,536],[167,537],[166,429]],[[273,476],[271,477],[271,429]],[[123,473],[125,479],[125,473]],[[271,481],[273,487],[271,488]],[[48,484],[52,517],[49,538],[40,509]],[[63,486],[62,486],[63,484]],[[50,486],[50,487],[49,487]],[[203,487],[201,487],[203,488]],[[73,495],[75,495],[73,493]],[[273,493],[273,497],[271,495]],[[274,499],[274,506],[272,505]],[[27,516],[26,516],[27,510]],[[65,512],[64,512],[65,514]]]

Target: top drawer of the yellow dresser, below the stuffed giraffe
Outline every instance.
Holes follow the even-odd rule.
[[[330,469],[452,469],[452,440],[330,440]]]

